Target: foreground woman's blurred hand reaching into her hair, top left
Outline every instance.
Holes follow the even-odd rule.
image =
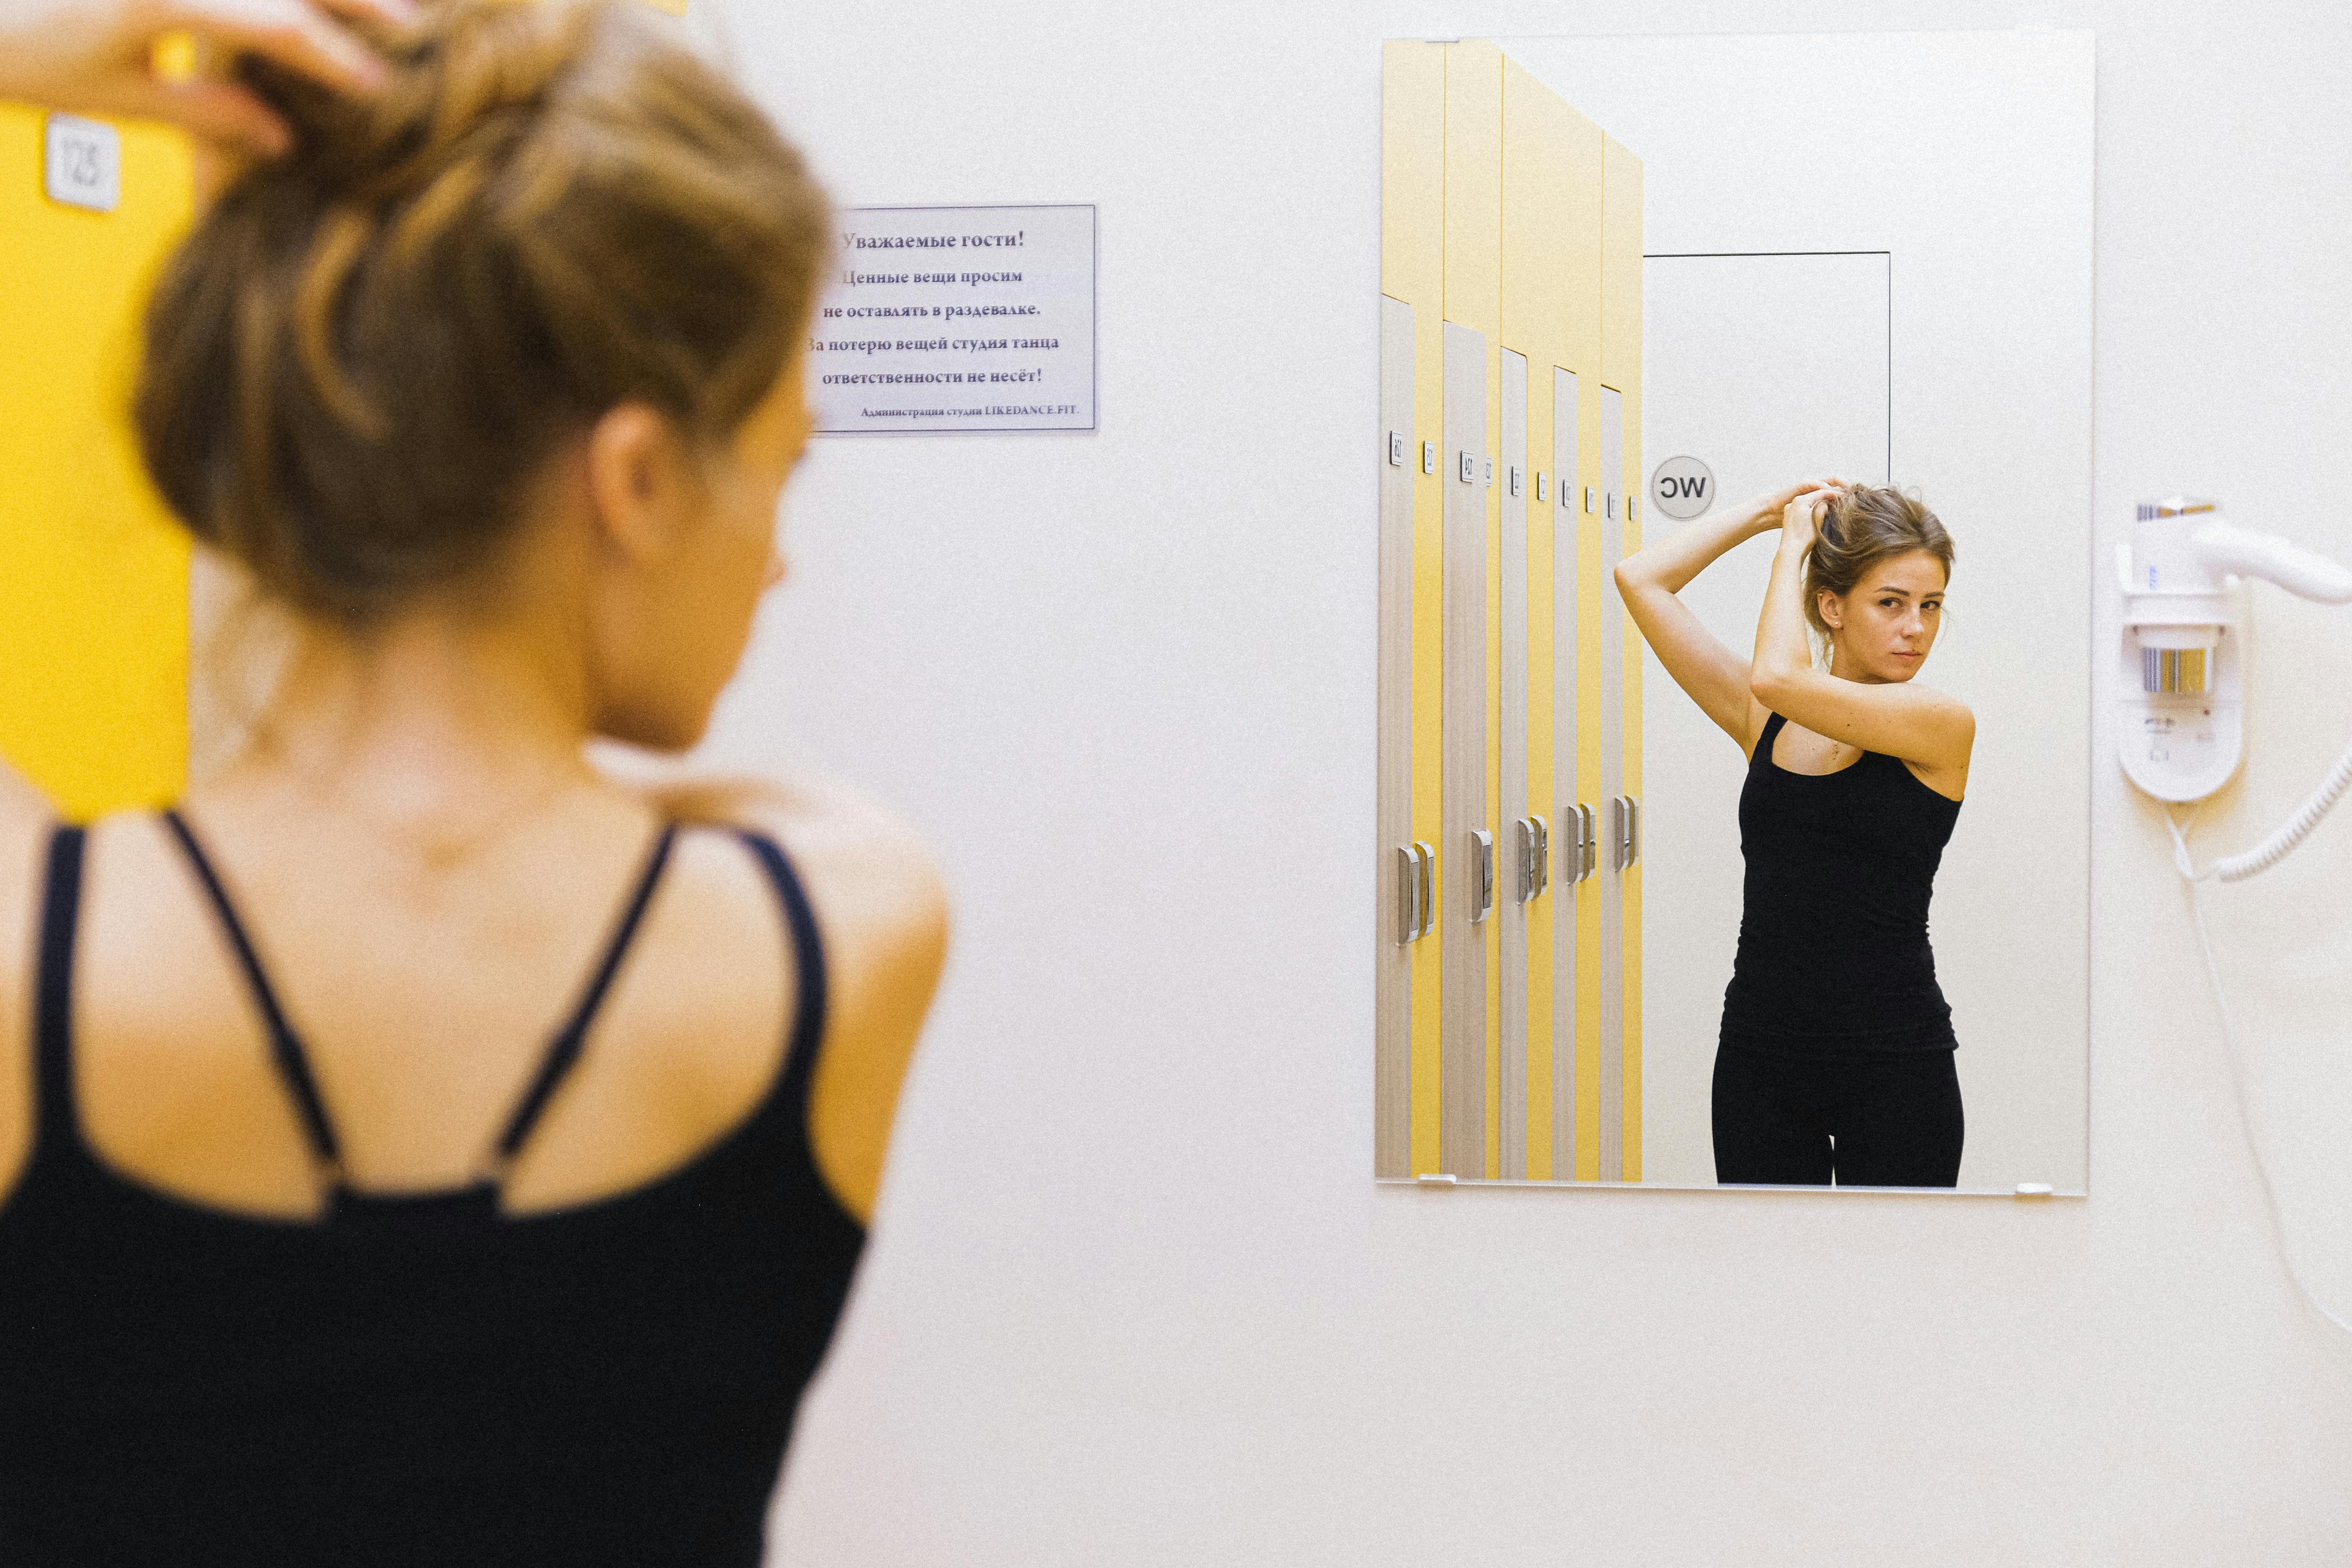
[[[169,80],[155,47],[174,33],[200,63],[261,54],[339,92],[383,85],[383,61],[348,24],[400,26],[412,0],[0,0],[0,96],[179,125],[221,150],[275,158],[289,132],[212,71]]]

